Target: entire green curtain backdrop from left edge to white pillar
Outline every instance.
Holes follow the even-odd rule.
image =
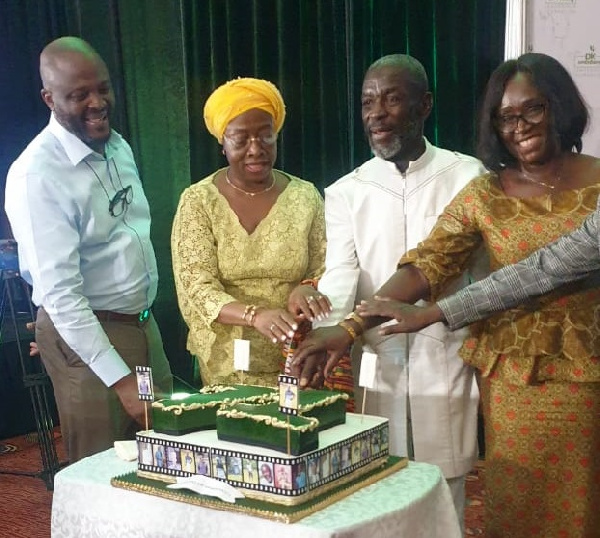
[[[477,101],[501,62],[505,0],[0,0],[0,172],[45,125],[38,56],[61,35],[106,60],[153,215],[155,314],[177,375],[190,378],[170,256],[179,195],[225,161],[202,118],[219,84],[273,81],[288,118],[277,166],[323,189],[370,156],[360,120],[368,65],[409,53],[430,76],[426,134],[472,153]],[[1,198],[0,198],[1,199]],[[0,215],[0,226],[6,228]]]

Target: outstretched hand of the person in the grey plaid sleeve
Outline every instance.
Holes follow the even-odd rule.
[[[356,311],[365,318],[380,316],[392,318],[398,322],[381,327],[379,329],[381,335],[412,333],[438,321],[445,321],[444,314],[435,303],[427,306],[415,306],[377,295],[372,299],[361,301],[356,307]]]

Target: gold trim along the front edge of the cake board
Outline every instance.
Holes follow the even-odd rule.
[[[363,487],[370,486],[371,484],[378,482],[382,478],[385,478],[403,469],[407,465],[407,458],[395,458],[392,456],[390,457],[388,463],[384,467],[375,471],[373,474],[370,474],[362,479],[358,479],[355,477],[355,480],[352,481],[352,483],[350,484],[341,484],[339,481],[336,481],[334,486],[340,487],[340,485],[345,485],[345,487],[342,487],[339,491],[336,491],[331,495],[325,496],[321,500],[306,501],[310,503],[310,506],[298,507],[296,509],[294,509],[294,507],[288,507],[292,510],[290,513],[278,511],[278,505],[270,502],[265,502],[267,506],[265,506],[264,508],[258,506],[243,506],[241,504],[227,503],[214,497],[198,495],[183,490],[168,490],[165,489],[165,486],[160,483],[158,483],[157,485],[148,485],[140,484],[137,482],[131,482],[131,480],[137,479],[135,471],[127,473],[125,475],[113,477],[111,478],[110,483],[114,487],[126,489],[129,491],[147,493],[149,495],[154,495],[156,497],[162,497],[173,501],[187,502],[188,504],[204,506],[206,508],[212,508],[215,510],[238,512],[254,517],[261,517],[264,519],[270,519],[273,521],[279,521],[281,523],[289,524],[295,523],[296,521],[299,521],[300,519],[309,516],[318,510],[322,510],[323,508],[326,508],[327,506],[330,506],[333,503],[336,503],[341,499],[351,495],[352,493],[355,493]],[[327,490],[319,488],[318,494],[317,492],[315,492],[315,497],[319,497],[326,492]]]

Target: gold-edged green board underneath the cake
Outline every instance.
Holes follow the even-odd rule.
[[[110,483],[118,488],[147,493],[174,501],[186,502],[205,508],[241,512],[255,517],[262,517],[282,523],[294,523],[318,510],[351,495],[359,489],[371,485],[382,478],[403,469],[408,465],[408,458],[389,456],[387,462],[362,476],[345,484],[340,484],[327,492],[316,495],[309,501],[294,506],[259,501],[257,499],[243,498],[237,502],[227,503],[215,497],[199,495],[192,491],[167,489],[167,484],[156,480],[149,480],[137,475],[136,471],[111,479]]]

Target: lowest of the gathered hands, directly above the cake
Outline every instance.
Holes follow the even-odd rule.
[[[300,342],[292,360],[292,375],[300,378],[300,388],[310,386],[319,368],[326,377],[352,345],[352,337],[343,327],[321,327]],[[325,362],[326,361],[326,362]]]

